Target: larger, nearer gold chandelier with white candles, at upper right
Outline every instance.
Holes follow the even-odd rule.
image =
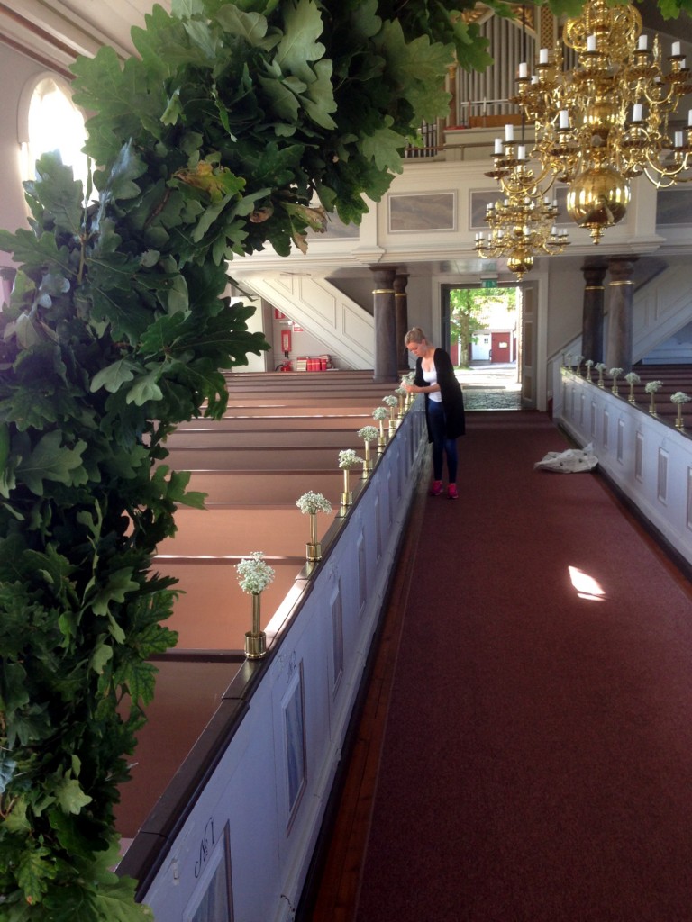
[[[690,70],[676,41],[663,74],[658,37],[649,48],[641,29],[633,6],[587,0],[563,31],[577,55],[574,70],[563,70],[559,44],[552,55],[541,49],[533,75],[526,62],[519,65],[512,101],[535,124],[531,158],[540,160],[539,179],[567,183],[567,210],[594,243],[624,218],[633,177],[643,173],[657,186],[692,180],[692,112],[686,125],[673,120],[692,90]],[[512,154],[507,139],[499,148],[495,142],[500,183]]]

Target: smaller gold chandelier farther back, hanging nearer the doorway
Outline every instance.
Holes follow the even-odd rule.
[[[535,254],[562,253],[568,234],[555,227],[557,201],[542,189],[525,144],[515,145],[512,125],[505,129],[504,144],[495,140],[495,170],[485,175],[500,183],[506,197],[486,207],[490,230],[487,237],[483,231],[476,234],[474,250],[484,259],[507,256],[508,268],[520,281],[533,266]]]

